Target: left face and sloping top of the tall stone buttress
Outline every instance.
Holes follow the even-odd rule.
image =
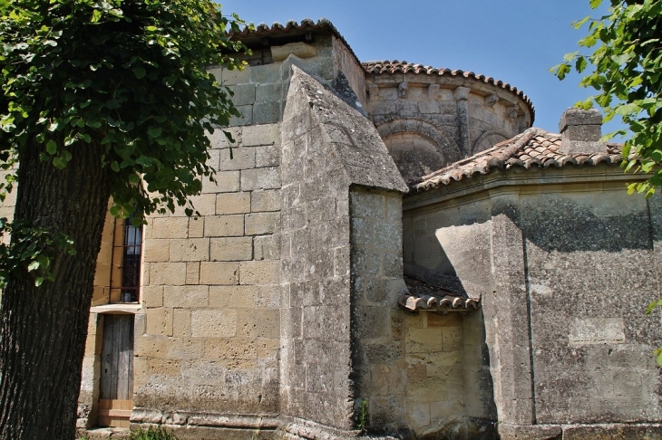
[[[360,217],[354,218],[350,193],[353,200],[364,196],[370,206],[381,206],[381,216],[364,232],[375,236],[375,227],[392,231],[387,235],[390,243],[376,254],[378,262],[391,256],[391,264],[397,266],[396,208],[406,187],[370,121],[347,105],[346,100],[357,101],[351,89],[326,90],[305,72],[293,70],[282,128],[282,416],[290,421],[287,431],[294,435],[355,435],[353,429],[361,425],[356,416],[360,392],[375,396],[375,408],[388,407],[384,397],[391,395],[363,387],[368,378],[357,368],[352,339],[373,343],[385,336],[370,334],[366,323],[389,322],[393,302],[379,300],[381,307],[371,310],[377,311],[376,317],[365,320],[353,311],[360,300],[351,283],[352,230],[365,217],[358,211]],[[366,196],[367,192],[350,189],[357,185],[382,192]],[[384,325],[380,329],[385,330]]]

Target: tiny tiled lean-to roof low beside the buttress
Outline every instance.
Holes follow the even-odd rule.
[[[471,311],[478,309],[481,300],[458,295],[427,282],[404,276],[409,293],[398,303],[409,311]]]

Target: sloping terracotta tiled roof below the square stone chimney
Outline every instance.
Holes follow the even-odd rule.
[[[416,191],[424,191],[449,185],[462,178],[471,178],[478,174],[488,174],[492,169],[511,167],[531,168],[563,167],[573,165],[597,165],[619,163],[621,147],[619,144],[605,144],[605,151],[593,154],[562,154],[560,134],[542,129],[527,129],[512,139],[504,140],[490,149],[486,149],[471,158],[465,158],[438,171],[421,177],[410,184]]]

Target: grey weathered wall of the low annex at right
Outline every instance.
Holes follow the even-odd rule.
[[[560,172],[534,180],[559,182]],[[623,423],[657,433],[651,353],[662,335],[644,310],[660,289],[662,204],[628,196],[605,167],[565,172],[564,185],[489,176],[412,196],[405,273],[423,267],[482,295],[490,349],[476,346],[470,368],[484,397],[492,384],[479,359],[489,362],[501,438],[611,438]],[[466,406],[473,417],[492,418],[489,409],[484,398]]]

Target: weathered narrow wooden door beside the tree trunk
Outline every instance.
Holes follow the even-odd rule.
[[[103,316],[99,426],[129,427],[133,409],[133,315]]]

